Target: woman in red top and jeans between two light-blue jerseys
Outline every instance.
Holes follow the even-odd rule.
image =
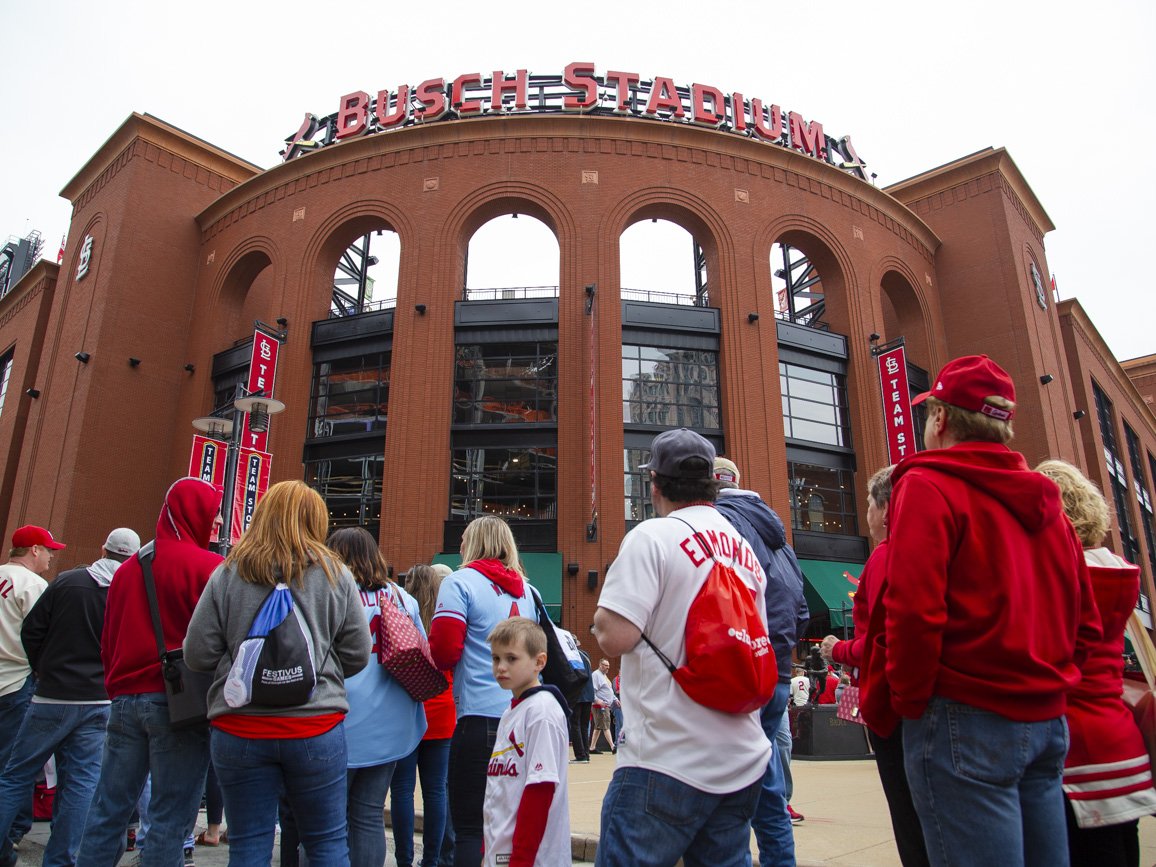
[[[449,572],[449,570],[446,570]],[[422,624],[429,630],[437,606],[443,576],[439,570],[418,564],[406,575],[406,590],[417,600]],[[453,707],[453,680],[439,696],[425,701],[429,727],[422,742],[398,762],[390,786],[390,814],[393,818],[393,855],[398,867],[414,864],[414,788],[422,779],[422,867],[437,867],[442,838],[445,835],[446,773],[450,764],[450,739],[457,713]]]

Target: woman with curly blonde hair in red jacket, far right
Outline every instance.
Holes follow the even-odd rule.
[[[1124,689],[1124,627],[1140,593],[1140,566],[1102,547],[1107,503],[1084,475],[1062,460],[1036,469],[1060,486],[1064,511],[1084,546],[1104,640],[1088,651],[1080,683],[1068,692],[1068,757],[1064,794],[1073,867],[1140,864],[1140,816],[1156,813],[1151,763]]]

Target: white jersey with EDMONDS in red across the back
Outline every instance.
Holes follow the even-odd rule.
[[[766,577],[750,547],[712,506],[675,514],[699,532],[722,563],[755,591],[764,622]],[[622,540],[598,603],[620,614],[681,666],[687,661],[687,614],[713,561],[691,528],[675,518],[652,518]],[[736,792],[762,779],[771,755],[758,711],[724,713],[695,702],[675,683],[645,642],[622,657],[625,725],[618,765],[646,768],[712,794]]]

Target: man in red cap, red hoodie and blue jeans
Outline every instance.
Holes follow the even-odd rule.
[[[1065,699],[1101,631],[1080,542],[1006,445],[1015,387],[995,362],[956,358],[912,402],[927,450],[892,475],[864,713],[903,718],[933,865],[1066,864]]]

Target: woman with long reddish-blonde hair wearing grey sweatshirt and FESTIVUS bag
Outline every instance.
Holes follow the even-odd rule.
[[[284,792],[313,867],[346,867],[344,679],[369,661],[370,638],[349,570],[325,544],[325,501],[303,482],[279,482],[217,568],[185,638],[190,668],[213,672],[210,748],[229,814],[231,864],[268,864]],[[277,585],[311,647],[317,684],[295,706],[232,706],[225,680],[253,618]],[[237,701],[234,699],[234,704]]]

